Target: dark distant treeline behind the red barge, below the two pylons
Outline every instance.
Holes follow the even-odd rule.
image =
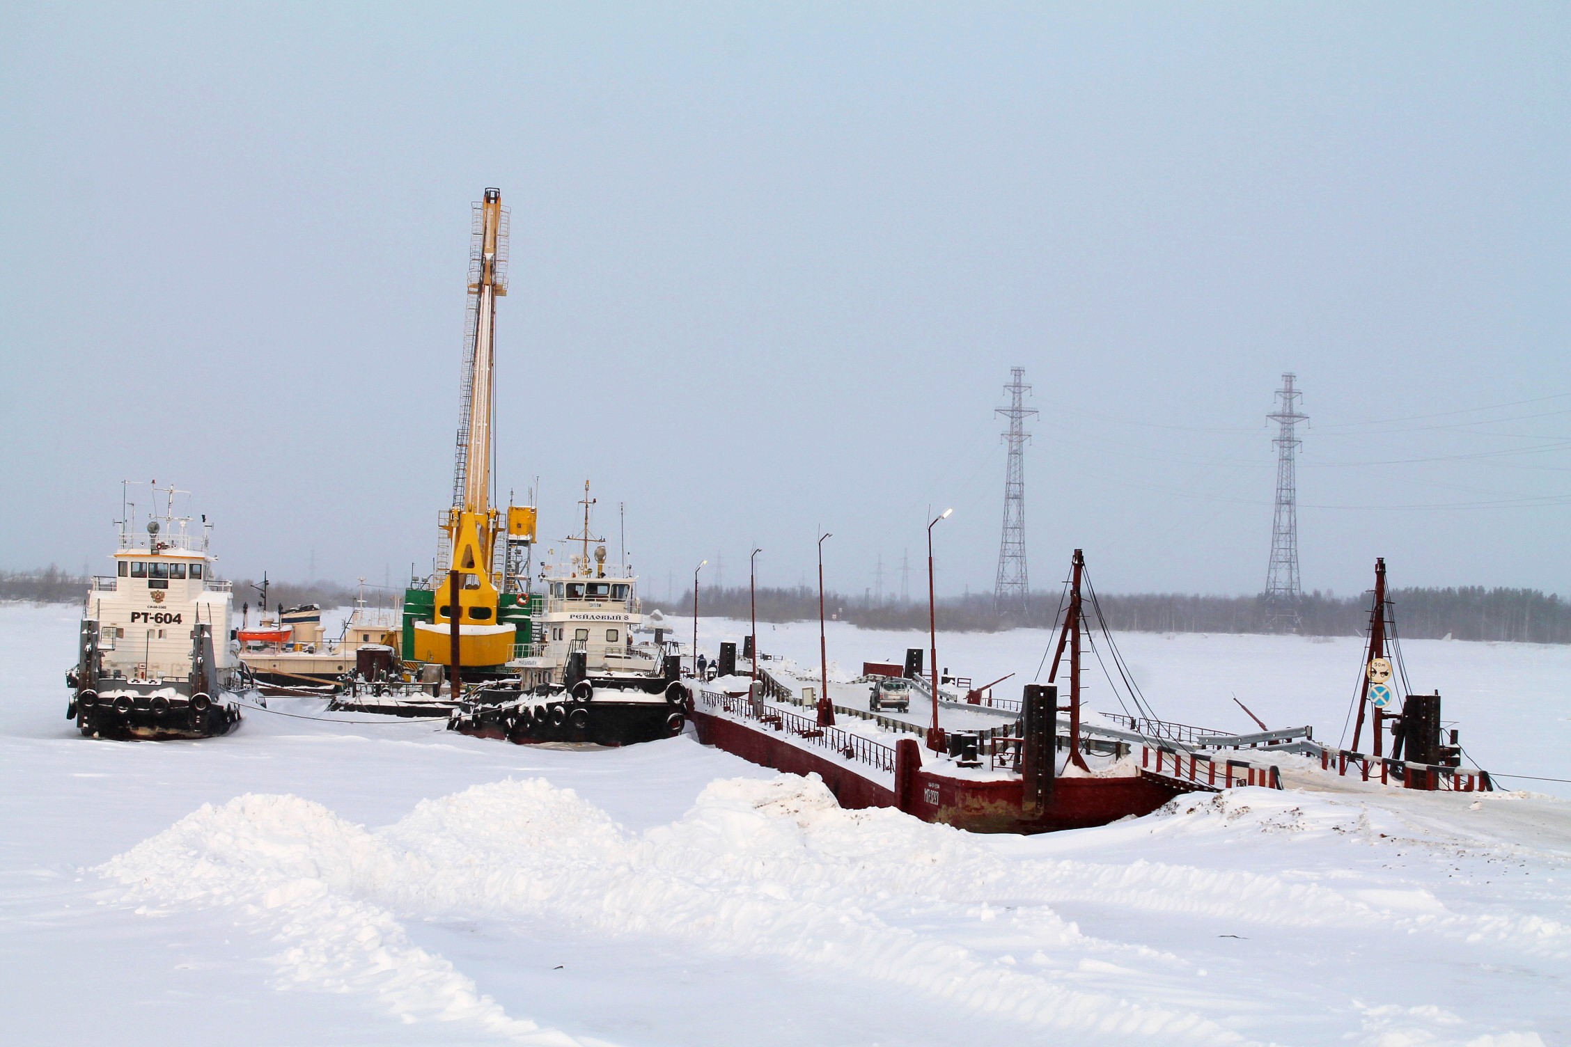
[[[1126,633],[1269,633],[1271,615],[1262,596],[1197,596],[1191,593],[1098,595],[1108,626]],[[1400,636],[1411,639],[1524,640],[1571,644],[1571,601],[1536,589],[1393,589],[1393,617]],[[652,604],[654,601],[646,601]],[[1306,636],[1362,636],[1368,625],[1370,595],[1307,593],[1299,604],[1299,633]],[[869,629],[927,629],[927,603],[877,603],[825,593],[825,615]],[[704,615],[748,617],[746,589],[704,589]],[[1089,607],[1087,607],[1089,612]],[[687,593],[671,614],[693,614]],[[998,614],[991,595],[946,596],[938,601],[938,625],[961,633],[993,633],[1020,626],[1051,628],[1059,593],[1034,593],[1024,611]],[[801,622],[818,617],[814,589],[760,589],[760,622]]]

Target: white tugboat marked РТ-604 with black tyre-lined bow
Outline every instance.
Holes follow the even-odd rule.
[[[192,518],[174,515],[184,493],[154,488],[145,531],[127,502],[115,573],[90,582],[77,664],[66,673],[66,717],[86,736],[209,738],[240,722],[242,670],[228,640],[234,598],[214,578],[206,516],[193,534]]]

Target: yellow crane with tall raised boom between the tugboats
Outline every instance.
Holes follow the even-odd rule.
[[[503,618],[526,615],[528,598],[520,614],[503,614],[506,565],[496,542],[506,535],[533,543],[536,520],[529,505],[509,505],[504,516],[490,504],[496,298],[507,294],[507,210],[498,188],[487,188],[476,206],[468,290],[452,507],[441,524],[448,571],[432,579],[430,620],[412,622],[410,639],[415,661],[449,664],[457,625],[460,666],[500,667],[514,656],[518,631],[517,622]],[[517,600],[509,603],[517,606]]]

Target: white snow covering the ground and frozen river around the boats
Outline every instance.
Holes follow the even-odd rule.
[[[817,662],[815,626],[760,631]],[[529,749],[276,714],[297,700],[220,739],[88,741],[74,637],[74,607],[0,607],[6,1044],[1571,1041],[1565,801],[1235,790],[976,837],[690,738]],[[855,670],[908,639],[836,626],[829,651]],[[939,637],[939,659],[1029,678],[1038,640]],[[1241,728],[1232,691],[1332,738],[1357,662],[1123,647],[1170,719]],[[1571,777],[1566,651],[1408,659],[1485,766]]]

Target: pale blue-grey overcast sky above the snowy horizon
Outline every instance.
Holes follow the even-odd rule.
[[[500,485],[650,595],[991,589],[1015,364],[1037,587],[1258,592],[1296,370],[1306,589],[1571,593],[1568,11],[5,3],[0,567],[429,564],[496,185]]]

